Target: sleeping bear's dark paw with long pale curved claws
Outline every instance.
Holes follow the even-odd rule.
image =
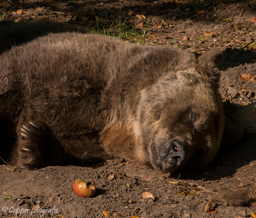
[[[67,154],[51,128],[41,120],[30,121],[19,129],[12,163],[18,169],[63,165]]]

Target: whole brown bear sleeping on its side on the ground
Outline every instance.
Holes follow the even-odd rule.
[[[75,32],[13,47],[0,57],[1,139],[17,138],[10,163],[112,155],[164,173],[208,164],[224,131],[221,57]]]

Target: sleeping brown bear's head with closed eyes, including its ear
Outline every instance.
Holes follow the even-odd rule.
[[[171,172],[204,166],[219,150],[224,111],[218,80],[221,52],[191,60],[141,92],[135,148],[141,163]]]

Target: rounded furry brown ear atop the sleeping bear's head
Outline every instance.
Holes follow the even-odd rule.
[[[196,68],[202,75],[205,75],[214,83],[218,83],[220,78],[219,67],[222,58],[223,53],[220,50],[212,50],[198,58]]]

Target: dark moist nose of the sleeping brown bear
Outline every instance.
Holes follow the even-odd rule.
[[[168,162],[172,165],[180,166],[186,160],[186,144],[179,139],[174,139],[166,146],[168,152]]]

